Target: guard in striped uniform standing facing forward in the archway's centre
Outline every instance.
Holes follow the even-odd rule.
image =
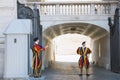
[[[86,75],[89,76],[88,74],[88,69],[89,69],[89,60],[88,60],[88,55],[91,53],[91,50],[86,47],[86,42],[82,42],[82,47],[79,47],[77,49],[77,54],[80,55],[78,65],[80,68],[80,75],[82,75],[83,71],[83,66],[85,66],[86,69]]]

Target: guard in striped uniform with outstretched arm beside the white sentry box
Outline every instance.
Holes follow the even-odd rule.
[[[42,47],[39,45],[38,37],[34,38],[33,45],[33,59],[32,59],[32,69],[34,77],[41,76],[41,68],[42,68],[42,59],[41,59],[41,51],[46,50],[48,46]]]

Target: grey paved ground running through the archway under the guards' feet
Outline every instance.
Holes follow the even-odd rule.
[[[90,66],[89,76],[85,74],[79,75],[77,63],[55,63],[42,72],[42,78],[30,79],[0,79],[0,80],[120,80],[120,73],[113,73],[104,68]]]

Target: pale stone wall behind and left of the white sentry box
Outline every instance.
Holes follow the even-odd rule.
[[[4,31],[10,22],[17,17],[17,0],[0,0],[0,77],[4,72]]]

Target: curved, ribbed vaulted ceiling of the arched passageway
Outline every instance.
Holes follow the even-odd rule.
[[[47,39],[53,39],[64,34],[82,34],[89,36],[92,39],[99,39],[105,36],[108,32],[99,26],[87,23],[65,23],[54,25],[47,28],[43,36]]]

